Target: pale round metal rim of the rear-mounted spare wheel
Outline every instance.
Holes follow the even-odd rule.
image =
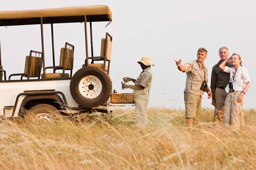
[[[87,75],[80,80],[78,88],[83,97],[95,98],[102,92],[102,83],[96,76]]]

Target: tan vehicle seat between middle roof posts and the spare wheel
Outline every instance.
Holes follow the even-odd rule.
[[[61,48],[60,65],[46,67],[45,70],[53,69],[54,73],[45,73],[45,79],[59,79],[59,78],[72,77],[73,61],[74,61],[74,46],[66,42],[65,48]],[[62,73],[55,73],[56,70],[62,70]],[[70,75],[68,73],[65,73],[65,70],[70,70]],[[44,74],[42,74],[41,77],[42,79],[44,79]]]

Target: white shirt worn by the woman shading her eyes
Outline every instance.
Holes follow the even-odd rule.
[[[230,73],[230,82],[233,82],[234,91],[243,91],[246,87],[247,82],[250,82],[248,70],[242,66],[239,66],[237,69],[236,76],[233,79],[234,67],[225,66],[224,72]],[[230,87],[226,86],[226,92],[230,91]]]

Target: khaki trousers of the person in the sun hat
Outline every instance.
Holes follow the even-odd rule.
[[[147,105],[148,100],[134,98],[136,109],[136,123],[140,127],[147,127]]]

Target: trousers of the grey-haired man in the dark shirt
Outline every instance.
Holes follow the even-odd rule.
[[[224,109],[226,97],[227,97],[227,92],[225,90],[218,87],[215,89],[216,106],[214,108],[214,122],[222,123],[223,109]]]

